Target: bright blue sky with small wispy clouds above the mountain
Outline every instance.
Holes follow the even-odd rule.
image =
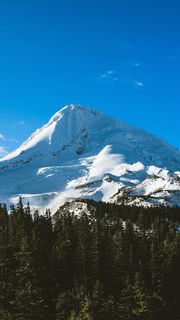
[[[178,0],[0,2],[0,155],[65,104],[103,111],[176,147]]]

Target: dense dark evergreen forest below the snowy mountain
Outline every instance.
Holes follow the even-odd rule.
[[[82,207],[0,206],[0,319],[180,319],[180,209]]]

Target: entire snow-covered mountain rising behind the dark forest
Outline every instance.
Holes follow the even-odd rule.
[[[67,199],[180,204],[180,151],[161,139],[77,105],[58,111],[0,159],[0,202],[34,207]]]

